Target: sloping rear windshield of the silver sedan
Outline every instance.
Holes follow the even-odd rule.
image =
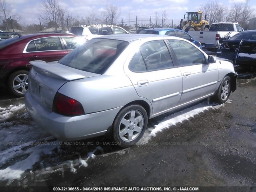
[[[128,44],[126,41],[94,38],[58,62],[79,70],[103,74]]]

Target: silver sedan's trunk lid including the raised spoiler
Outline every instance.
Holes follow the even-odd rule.
[[[66,82],[100,75],[71,68],[58,62],[46,63],[38,60],[30,64],[33,68],[29,73],[28,91],[41,106],[49,110],[52,110],[56,93]]]

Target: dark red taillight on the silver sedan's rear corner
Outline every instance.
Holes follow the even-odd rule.
[[[53,100],[52,111],[65,116],[84,114],[84,108],[80,102],[58,92]]]

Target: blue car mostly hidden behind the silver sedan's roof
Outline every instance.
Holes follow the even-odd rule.
[[[194,43],[196,46],[202,49],[202,45],[200,42],[196,41],[190,34],[187,32],[184,32],[179,29],[173,29],[173,28],[149,28],[145,30],[141,30],[139,34],[154,34],[154,35],[168,35],[168,36],[176,36],[183,39],[186,39],[192,43]]]

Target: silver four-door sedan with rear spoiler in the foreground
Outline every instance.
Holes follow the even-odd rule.
[[[104,134],[121,147],[140,140],[148,119],[236,90],[231,61],[173,36],[94,38],[58,62],[30,62],[25,104],[60,140]]]

